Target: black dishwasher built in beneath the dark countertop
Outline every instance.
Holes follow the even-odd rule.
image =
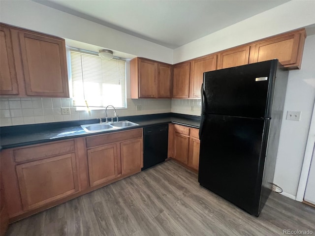
[[[143,129],[143,168],[148,169],[167,158],[168,124]]]

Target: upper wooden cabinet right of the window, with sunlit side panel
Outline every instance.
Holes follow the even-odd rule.
[[[131,98],[171,97],[171,65],[135,58],[130,61]]]

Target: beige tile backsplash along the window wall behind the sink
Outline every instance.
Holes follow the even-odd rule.
[[[117,110],[120,117],[171,112],[171,99],[127,99],[127,109]],[[62,115],[62,108],[70,108],[70,115]],[[137,109],[138,108],[138,109]],[[107,110],[108,117],[113,110]],[[105,110],[91,115],[76,111],[71,98],[7,98],[0,97],[0,126],[58,122],[67,120],[104,118]]]

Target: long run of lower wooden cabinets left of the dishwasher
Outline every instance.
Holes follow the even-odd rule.
[[[140,172],[143,130],[3,149],[0,158],[1,203],[12,222]]]

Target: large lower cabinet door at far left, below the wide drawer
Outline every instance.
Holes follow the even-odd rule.
[[[16,166],[24,210],[64,198],[79,190],[75,154]]]

